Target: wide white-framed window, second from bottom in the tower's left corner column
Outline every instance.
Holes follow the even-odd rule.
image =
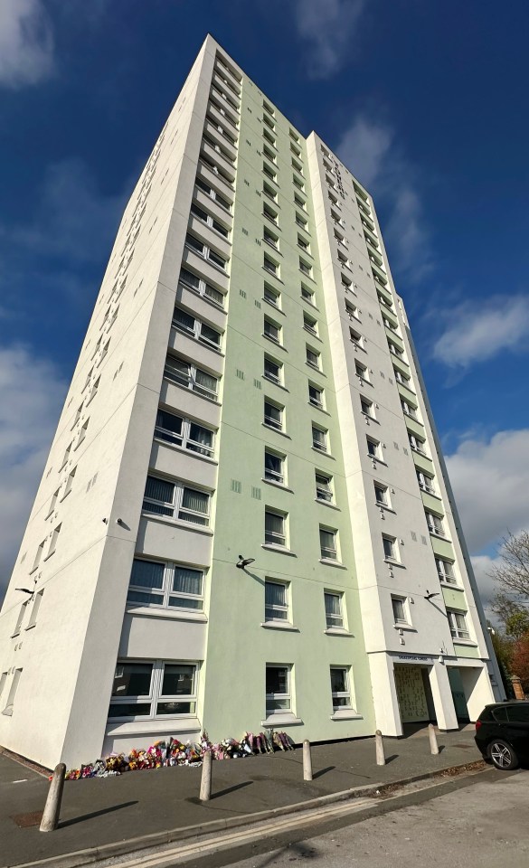
[[[132,564],[127,602],[161,609],[203,610],[203,571],[181,563],[143,561]]]

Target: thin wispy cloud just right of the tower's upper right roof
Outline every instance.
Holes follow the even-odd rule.
[[[391,127],[359,115],[335,150],[373,193],[379,211],[389,212],[384,236],[392,262],[414,282],[431,269],[430,240],[416,190],[416,173],[394,139]]]

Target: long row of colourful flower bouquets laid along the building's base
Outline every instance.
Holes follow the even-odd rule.
[[[241,741],[222,739],[213,743],[207,732],[203,732],[200,741],[187,741],[185,744],[178,739],[155,741],[146,750],[131,750],[130,753],[111,753],[104,760],[95,760],[80,769],[69,769],[67,780],[80,778],[112,778],[126,771],[140,769],[162,769],[165,766],[188,766],[198,768],[202,765],[203,754],[210,751],[213,760],[240,760],[244,757],[256,756],[260,753],[274,753],[276,750],[294,750],[294,742],[286,732],[270,730],[267,734],[260,732],[245,732]]]

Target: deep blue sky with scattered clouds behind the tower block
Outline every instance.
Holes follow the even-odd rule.
[[[120,212],[210,31],[373,193],[487,597],[529,526],[528,25],[524,0],[0,0],[0,592]]]

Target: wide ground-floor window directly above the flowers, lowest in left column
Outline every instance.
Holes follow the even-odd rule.
[[[194,714],[196,666],[184,663],[118,661],[109,720],[136,720]]]

